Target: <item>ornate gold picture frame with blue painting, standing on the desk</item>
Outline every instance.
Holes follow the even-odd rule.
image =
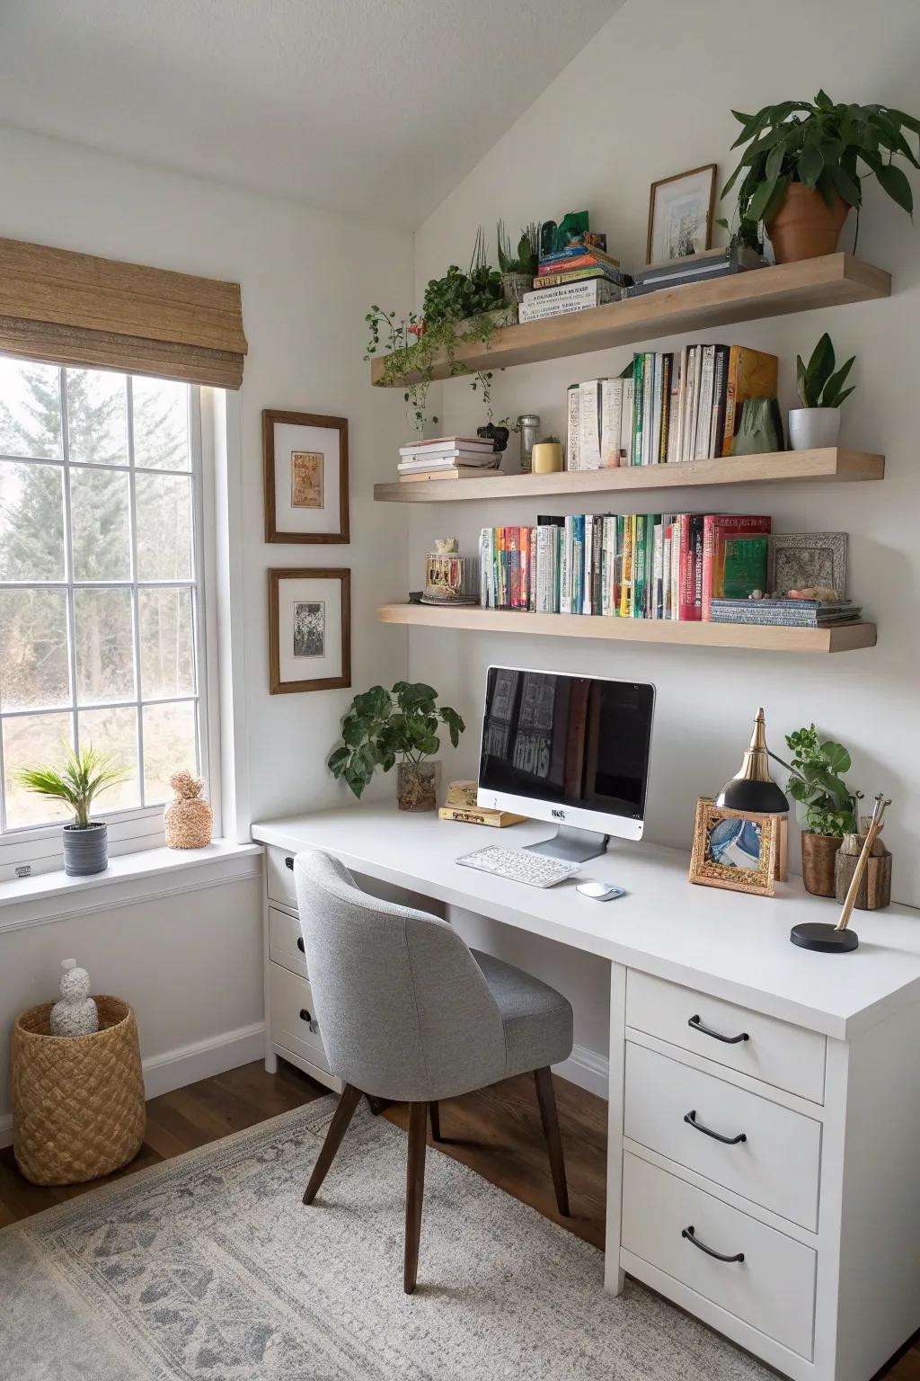
[[[778,831],[777,815],[730,811],[701,795],[697,801],[690,881],[772,896]]]

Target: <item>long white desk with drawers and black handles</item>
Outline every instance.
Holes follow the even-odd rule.
[[[834,920],[833,902],[797,880],[774,899],[691,887],[687,856],[648,844],[614,842],[585,866],[629,894],[597,903],[574,882],[538,891],[455,863],[484,844],[545,838],[542,824],[499,836],[359,807],[252,833],[268,845],[266,972],[283,971],[266,983],[269,1062],[294,1056],[337,1087],[319,1033],[294,1015],[276,1022],[276,1005],[303,1000],[312,1014],[284,865],[302,848],[597,954],[611,963],[607,1287],[626,1269],[815,1381],[869,1381],[920,1326],[919,911],[857,911],[854,954],[812,954],[789,929]],[[748,1039],[720,1041],[699,1023]],[[701,1135],[691,1109],[745,1139]],[[681,1237],[691,1224],[743,1262],[697,1250]]]

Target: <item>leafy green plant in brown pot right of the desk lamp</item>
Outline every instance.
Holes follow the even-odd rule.
[[[851,758],[841,743],[821,740],[814,724],[786,735],[792,749],[786,790],[806,808],[807,830],[801,834],[801,880],[815,896],[834,895],[834,862],[844,834],[858,829],[858,801],[841,773]]]

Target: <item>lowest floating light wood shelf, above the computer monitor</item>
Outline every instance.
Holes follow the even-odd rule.
[[[381,623],[414,628],[473,632],[521,632],[554,638],[604,638],[611,642],[670,642],[683,648],[750,648],[757,652],[855,652],[874,648],[874,623],[844,623],[834,628],[777,628],[761,623],[676,623],[659,619],[604,619],[568,613],[528,613],[465,605],[382,605]]]

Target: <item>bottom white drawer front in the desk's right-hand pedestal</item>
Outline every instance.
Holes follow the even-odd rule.
[[[717,1261],[681,1236],[743,1261]],[[753,1329],[812,1355],[817,1254],[657,1166],[623,1156],[622,1244]]]

